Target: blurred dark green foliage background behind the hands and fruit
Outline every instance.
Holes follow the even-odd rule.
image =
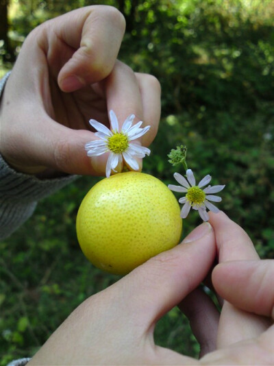
[[[12,1],[12,47],[18,51],[42,21],[92,3]],[[214,184],[226,184],[219,206],[247,230],[262,258],[273,258],[273,3],[100,3],[123,3],[129,23],[119,58],[162,84],[162,121],[143,171],[174,183],[175,169],[166,155],[176,145],[186,145],[188,166],[197,179],[210,173]],[[1,52],[3,56],[3,47]],[[4,71],[10,64],[2,61],[0,67]],[[92,267],[77,244],[77,208],[97,180],[79,178],[44,199],[35,215],[0,243],[0,365],[32,355],[86,297],[119,279]],[[199,222],[191,212],[184,236]],[[199,354],[177,308],[160,320],[155,341]]]

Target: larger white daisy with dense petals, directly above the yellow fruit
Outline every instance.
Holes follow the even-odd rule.
[[[140,128],[142,121],[132,125],[134,121],[134,114],[131,114],[125,119],[121,131],[119,131],[119,124],[116,114],[113,110],[110,110],[110,128],[105,127],[95,119],[90,119],[90,125],[97,130],[95,136],[99,137],[100,140],[90,141],[85,145],[88,156],[99,156],[110,153],[108,162],[105,167],[105,175],[110,177],[111,171],[115,171],[115,168],[119,163],[125,160],[128,167],[133,170],[138,170],[138,162],[136,158],[145,158],[146,155],[150,154],[150,150],[147,147],[140,146],[138,143],[132,143],[136,138],[144,135],[150,128],[146,126]]]

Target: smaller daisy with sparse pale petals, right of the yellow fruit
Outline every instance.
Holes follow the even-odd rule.
[[[212,212],[219,212],[219,208],[214,206],[210,201],[221,202],[221,197],[212,195],[212,193],[221,192],[225,186],[207,186],[206,188],[201,189],[201,187],[206,186],[210,182],[211,176],[206,175],[206,177],[196,185],[195,176],[191,169],[186,171],[187,180],[179,173],[175,173],[174,178],[181,186],[169,184],[169,189],[175,192],[186,193],[185,197],[179,199],[179,203],[184,204],[181,211],[182,219],[185,219],[188,216],[191,207],[194,210],[198,210],[203,221],[209,220],[208,212],[206,211],[207,208]]]

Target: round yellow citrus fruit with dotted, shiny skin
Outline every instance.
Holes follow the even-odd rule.
[[[123,275],[177,245],[179,214],[177,199],[160,180],[145,173],[119,173],[95,184],[84,197],[77,238],[93,265]]]

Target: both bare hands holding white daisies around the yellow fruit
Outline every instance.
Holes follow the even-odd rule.
[[[24,173],[103,175],[107,156],[90,160],[84,145],[95,138],[89,119],[108,125],[136,114],[160,119],[160,86],[117,60],[125,21],[111,7],[75,10],[29,34],[1,101],[1,154]],[[42,173],[41,173],[42,172]],[[80,305],[29,365],[271,365],[273,263],[223,213],[210,216],[184,241]],[[191,241],[190,241],[191,240]],[[216,242],[216,245],[215,245]],[[214,258],[214,288],[227,302],[221,317],[197,286]],[[179,304],[201,343],[200,361],[153,343],[155,322]]]

